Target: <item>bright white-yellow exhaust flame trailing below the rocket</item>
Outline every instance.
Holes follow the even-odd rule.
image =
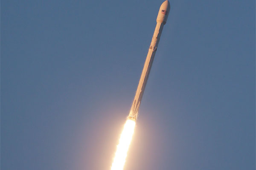
[[[125,158],[127,156],[128,148],[131,143],[131,138],[134,133],[135,122],[127,120],[125,127],[121,133],[119,144],[117,145],[115,158],[112,163],[111,170],[122,170],[125,165]]]

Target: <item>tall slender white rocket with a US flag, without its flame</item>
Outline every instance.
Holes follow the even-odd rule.
[[[154,56],[157,51],[157,46],[160,41],[160,37],[163,31],[163,26],[166,24],[166,20],[170,11],[170,3],[168,0],[164,1],[160,6],[158,15],[157,15],[157,25],[153,34],[152,41],[150,43],[148,49],[148,55],[146,57],[146,61],[143,67],[143,71],[140,77],[140,82],[131,105],[131,111],[129,113],[128,119],[136,120],[138,116],[138,111],[140,108],[140,102],[142,100],[143,93],[145,91],[145,87],[148,81],[149,72],[154,60]]]

